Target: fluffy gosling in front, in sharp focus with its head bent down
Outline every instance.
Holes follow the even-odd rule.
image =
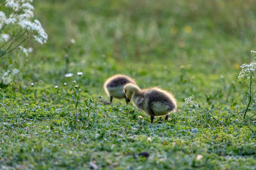
[[[175,111],[177,103],[172,93],[153,87],[150,89],[140,90],[134,84],[127,84],[124,87],[125,95],[132,101],[132,104],[140,108],[146,115],[151,118],[163,117],[168,120],[171,111]]]

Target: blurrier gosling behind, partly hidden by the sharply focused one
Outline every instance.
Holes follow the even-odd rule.
[[[125,99],[126,103],[130,102],[129,99],[124,94],[124,86],[127,83],[132,83],[136,85],[136,82],[129,78],[129,76],[125,76],[122,74],[116,74],[108,78],[108,80],[104,83],[104,90],[108,97],[110,98],[110,103],[112,103],[113,97],[116,99]]]

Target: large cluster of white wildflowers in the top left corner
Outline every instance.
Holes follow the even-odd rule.
[[[24,36],[40,44],[46,43],[47,33],[40,21],[33,19],[32,2],[33,0],[5,0],[5,6],[0,10],[0,42],[14,41],[19,35],[10,32],[18,30],[20,34],[25,32]]]

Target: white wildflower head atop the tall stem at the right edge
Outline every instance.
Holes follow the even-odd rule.
[[[253,73],[256,69],[256,62],[253,61],[250,64],[243,64],[241,67],[241,71],[239,73],[238,78],[247,78],[250,79],[250,76],[253,78]]]

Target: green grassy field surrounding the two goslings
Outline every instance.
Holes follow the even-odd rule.
[[[49,39],[0,58],[19,69],[0,89],[0,169],[256,169],[256,104],[243,119],[237,78],[254,60],[256,1],[33,5]],[[105,105],[103,83],[117,73],[172,91],[178,110],[150,124],[125,100]]]

